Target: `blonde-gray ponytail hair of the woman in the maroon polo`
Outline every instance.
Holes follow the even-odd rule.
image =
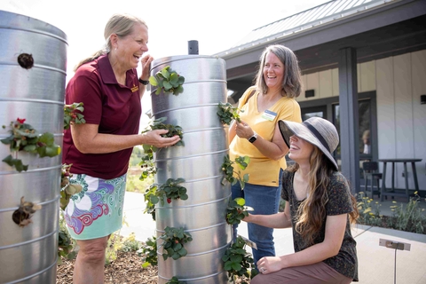
[[[76,71],[77,68],[81,67],[84,63],[97,59],[99,58],[99,56],[111,51],[112,46],[111,46],[110,36],[113,34],[119,37],[129,36],[133,32],[133,27],[135,24],[141,24],[141,25],[144,25],[146,28],[148,28],[144,20],[141,20],[135,16],[132,16],[130,14],[114,14],[106,22],[106,26],[104,30],[104,38],[105,38],[104,47],[100,49],[99,51],[96,51],[95,53],[93,53],[90,57],[80,61],[74,68],[74,71]]]

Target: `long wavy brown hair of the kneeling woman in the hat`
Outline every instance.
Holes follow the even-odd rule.
[[[322,225],[326,221],[326,203],[328,201],[327,187],[333,174],[334,166],[318,147],[314,146],[310,158],[308,196],[299,206],[296,213],[296,232],[304,237],[307,244],[312,245]],[[295,163],[289,168],[296,172],[299,165]],[[349,188],[349,185],[348,185]],[[357,201],[351,194],[352,211],[349,213],[351,224],[359,217]]]

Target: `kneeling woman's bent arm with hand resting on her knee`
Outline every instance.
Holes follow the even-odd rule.
[[[326,235],[323,242],[287,256],[267,256],[257,262],[264,267],[264,273],[277,272],[286,267],[317,264],[324,259],[336,256],[342,246],[347,214],[327,216]]]

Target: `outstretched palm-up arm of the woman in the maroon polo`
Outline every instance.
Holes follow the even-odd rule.
[[[180,138],[162,138],[162,134],[168,130],[152,130],[144,134],[114,135],[98,132],[98,124],[74,124],[71,125],[75,147],[83,154],[106,154],[127,149],[137,145],[152,145],[165,147],[175,145]]]

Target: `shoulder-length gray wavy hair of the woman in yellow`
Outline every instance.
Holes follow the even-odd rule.
[[[266,93],[268,86],[264,82],[264,61],[266,55],[272,52],[284,64],[284,78],[281,83],[282,90],[288,98],[297,98],[302,91],[302,80],[296,54],[288,47],[281,44],[269,45],[260,56],[259,70],[256,74],[256,89]]]

